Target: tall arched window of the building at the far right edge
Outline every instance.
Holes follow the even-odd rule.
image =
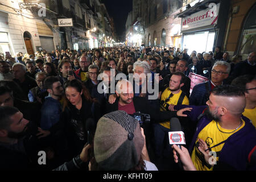
[[[256,50],[256,5],[250,10],[246,16],[243,25],[242,38],[238,52],[246,58],[250,52]]]

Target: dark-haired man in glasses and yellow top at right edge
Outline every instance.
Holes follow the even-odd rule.
[[[232,85],[245,90],[246,106],[242,114],[249,118],[256,127],[256,77],[242,75],[234,79]]]

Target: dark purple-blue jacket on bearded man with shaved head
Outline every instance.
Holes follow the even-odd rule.
[[[183,109],[185,107],[192,107],[192,111],[185,111],[184,114],[187,114],[192,121],[197,121],[200,114],[207,108],[207,106],[187,106],[187,105],[179,105],[175,106],[174,109]],[[231,135],[220,152],[218,162],[213,167],[213,170],[256,170],[255,163],[253,164],[255,159],[254,155],[251,155],[253,152],[255,154],[256,147],[256,130],[255,127],[250,123],[250,120],[246,117],[243,117],[243,121],[245,121],[245,126]],[[196,127],[196,133],[193,136],[191,146],[189,147],[189,152],[192,154],[193,148],[195,146],[197,137],[201,130],[207,126],[212,119],[207,118],[206,115],[203,115]],[[251,163],[250,163],[251,162]]]

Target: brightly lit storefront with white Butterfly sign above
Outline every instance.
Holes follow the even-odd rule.
[[[192,51],[209,52],[214,49],[214,42],[218,32],[214,28],[218,23],[218,12],[220,3],[214,4],[210,8],[198,11],[182,18],[181,48],[188,49],[190,55]]]

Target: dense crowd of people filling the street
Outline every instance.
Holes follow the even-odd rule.
[[[1,55],[0,169],[177,170],[181,160],[184,170],[255,170],[256,52],[187,51]],[[189,73],[208,81],[191,92]],[[181,148],[169,144],[171,118]]]

